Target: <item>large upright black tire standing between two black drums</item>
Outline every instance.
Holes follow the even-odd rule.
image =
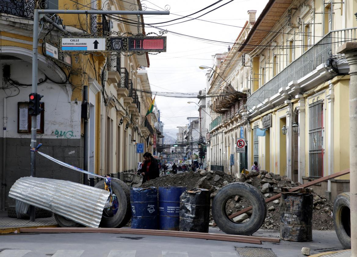
[[[253,213],[246,223],[233,222],[226,213],[227,201],[236,195],[245,197],[252,204]],[[266,212],[262,193],[256,187],[242,182],[234,182],[224,186],[218,191],[212,202],[213,220],[220,230],[231,235],[252,235],[263,225]]]

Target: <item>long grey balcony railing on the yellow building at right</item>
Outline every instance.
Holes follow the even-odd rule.
[[[344,55],[337,54],[337,47],[345,42],[356,42],[356,34],[357,28],[335,30],[328,33],[278,75],[253,92],[247,99],[248,109],[252,109],[265,99],[277,94],[279,89],[286,87],[289,82],[306,76],[317,66],[325,63],[330,56],[338,59],[344,58]]]

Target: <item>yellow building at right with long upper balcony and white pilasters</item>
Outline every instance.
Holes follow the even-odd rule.
[[[257,161],[262,169],[301,183],[349,168],[350,77],[345,56],[336,50],[356,40],[350,11],[356,7],[356,1],[271,0],[257,19],[248,11],[250,20],[220,67],[220,75],[247,93],[247,101],[239,114],[211,130],[229,135],[229,129],[239,133],[237,127],[243,127],[247,152],[237,158],[247,162],[245,168]],[[223,147],[234,151],[228,141]],[[348,178],[315,190],[334,199],[349,191]]]

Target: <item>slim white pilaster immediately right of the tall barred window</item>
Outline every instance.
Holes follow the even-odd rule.
[[[331,175],[333,173],[334,166],[334,158],[335,158],[335,150],[334,150],[334,109],[335,109],[335,89],[333,88],[333,84],[330,83],[329,94],[327,95],[327,105],[328,105],[328,136],[327,136],[327,145],[328,145],[328,163],[327,163],[327,175]],[[327,181],[327,191],[326,196],[331,200],[331,180]]]

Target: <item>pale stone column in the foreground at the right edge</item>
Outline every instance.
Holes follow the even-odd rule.
[[[357,257],[357,42],[347,42],[337,53],[346,56],[350,66],[350,203],[351,257]]]

